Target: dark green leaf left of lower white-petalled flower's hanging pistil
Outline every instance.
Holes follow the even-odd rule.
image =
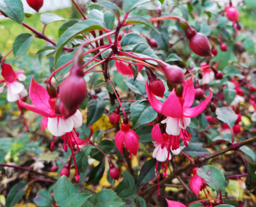
[[[158,167],[160,167],[160,165]],[[148,181],[152,180],[154,177],[156,177],[155,169],[156,169],[156,159],[151,159],[146,161],[140,169],[140,174],[138,177],[138,185],[142,186],[146,184]]]

